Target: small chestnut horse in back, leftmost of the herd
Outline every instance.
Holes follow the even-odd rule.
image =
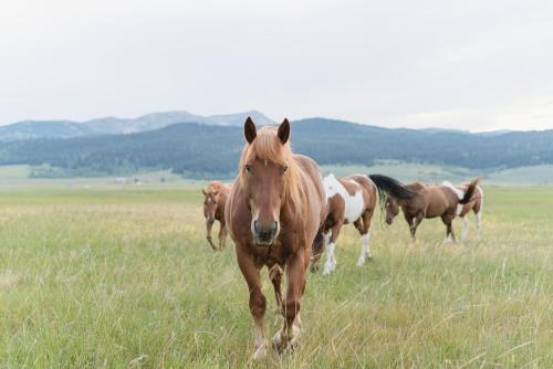
[[[223,250],[227,241],[227,223],[225,221],[225,204],[230,192],[230,186],[219,181],[211,181],[204,193],[204,217],[206,217],[207,241],[211,249]],[[211,239],[211,226],[215,221],[219,221],[219,247]]]

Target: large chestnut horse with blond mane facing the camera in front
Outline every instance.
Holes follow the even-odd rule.
[[[255,351],[267,355],[264,314],[267,299],[261,291],[260,271],[269,268],[276,304],[284,317],[273,337],[278,351],[296,345],[300,302],[305,289],[305,271],[311,245],[324,218],[324,189],[316,164],[290,148],[290,123],[257,131],[248,117],[247,144],[239,175],[230,190],[225,218],[236,243],[238,265],[250,292],[250,313],[254,321]],[[282,296],[283,270],[288,291]]]

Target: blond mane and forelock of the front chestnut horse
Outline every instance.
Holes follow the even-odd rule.
[[[242,149],[238,168],[238,181],[246,187],[247,175],[244,166],[248,161],[259,158],[271,164],[286,167],[284,172],[284,199],[288,199],[296,213],[303,213],[306,199],[302,183],[304,172],[294,159],[290,140],[284,145],[276,136],[276,127],[264,126],[257,133],[255,139]]]

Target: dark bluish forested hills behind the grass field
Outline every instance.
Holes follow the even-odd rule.
[[[176,124],[158,130],[69,139],[4,143],[0,165],[49,164],[70,172],[117,175],[173,169],[192,177],[231,175],[243,145],[241,127]],[[553,130],[486,136],[387,129],[323,118],[292,123],[296,152],[319,164],[372,165],[396,159],[466,167],[553,164]]]

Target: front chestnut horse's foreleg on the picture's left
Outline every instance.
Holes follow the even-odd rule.
[[[255,340],[254,359],[263,359],[267,356],[267,339],[264,315],[267,309],[267,298],[261,291],[260,268],[253,262],[253,257],[247,254],[237,245],[238,266],[248,283],[250,292],[250,313],[253,317],[253,337]]]

